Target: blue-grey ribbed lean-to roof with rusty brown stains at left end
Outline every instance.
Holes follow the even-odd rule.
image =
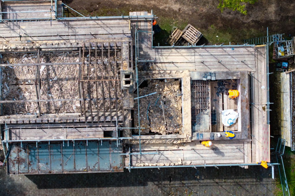
[[[117,141],[14,143],[7,173],[45,174],[123,172],[122,144]]]

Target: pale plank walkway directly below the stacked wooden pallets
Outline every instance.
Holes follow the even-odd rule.
[[[197,71],[255,71],[254,48],[142,48],[139,58],[155,62],[195,63]],[[192,57],[194,54],[194,58]],[[221,61],[220,63],[218,63]],[[242,62],[243,61],[243,62]],[[189,65],[191,66],[191,65]],[[187,67],[187,66],[186,66]],[[159,70],[159,69],[155,69]],[[160,70],[180,70],[162,67]],[[184,70],[184,69],[183,69]],[[193,69],[189,69],[193,70]]]

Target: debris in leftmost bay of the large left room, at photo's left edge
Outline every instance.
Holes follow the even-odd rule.
[[[4,64],[37,63],[37,53],[2,54]],[[1,67],[2,100],[35,100],[36,66]],[[37,114],[36,102],[2,104],[4,115]]]

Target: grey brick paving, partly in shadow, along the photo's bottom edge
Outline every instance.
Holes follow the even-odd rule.
[[[276,167],[275,167],[276,168]],[[0,195],[273,195],[271,167],[133,169],[120,173],[6,175]]]

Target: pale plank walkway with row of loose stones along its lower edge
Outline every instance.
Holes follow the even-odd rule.
[[[244,143],[235,141],[214,141],[213,146],[205,147],[199,141],[186,143],[185,146],[173,144],[142,144],[142,152],[156,152],[151,155],[132,155],[132,165],[137,163],[176,163],[181,159],[186,164],[204,163],[244,163]],[[138,152],[134,145],[131,152]],[[248,151],[247,151],[248,152]]]

